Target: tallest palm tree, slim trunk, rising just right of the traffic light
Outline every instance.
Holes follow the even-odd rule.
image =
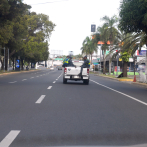
[[[112,16],[111,18],[109,18],[108,16],[104,16],[101,20],[105,21],[104,26],[106,26],[107,34],[109,36],[110,52],[111,52],[111,50],[113,49],[114,40],[119,33],[115,27],[115,25],[118,22],[118,18],[115,15]],[[111,74],[111,59],[109,59],[109,74]]]

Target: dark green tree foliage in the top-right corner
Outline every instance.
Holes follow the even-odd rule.
[[[147,1],[123,0],[120,5],[121,30],[129,32],[145,32],[147,34]]]

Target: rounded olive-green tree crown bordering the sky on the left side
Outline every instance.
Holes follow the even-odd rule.
[[[34,62],[48,59],[48,43],[55,24],[44,14],[32,12],[28,16],[28,34],[24,39],[25,59]]]

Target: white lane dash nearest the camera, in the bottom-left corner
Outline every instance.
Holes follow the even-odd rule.
[[[20,130],[10,131],[10,133],[0,142],[0,147],[9,147],[19,133]]]

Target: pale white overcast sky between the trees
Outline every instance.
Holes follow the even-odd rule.
[[[80,48],[86,36],[90,36],[91,24],[101,26],[105,15],[119,15],[120,0],[23,0],[32,6],[31,12],[43,13],[56,24],[49,41],[49,51],[63,50],[63,55]]]

